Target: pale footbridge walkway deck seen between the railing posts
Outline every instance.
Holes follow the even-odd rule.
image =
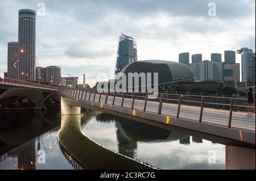
[[[81,98],[81,92],[77,97]],[[71,94],[73,95],[73,94]],[[90,95],[90,100],[93,100],[94,93]],[[100,98],[99,94],[96,94],[94,101],[98,102]],[[82,99],[85,99],[85,94]],[[100,102],[104,103],[106,95],[101,95]],[[89,93],[86,94],[86,100],[89,100]],[[123,107],[131,108],[133,100],[131,98],[125,98],[123,101]],[[113,96],[108,96],[108,104],[113,103]],[[121,106],[122,98],[115,96],[115,106]],[[159,102],[147,101],[146,112],[158,113]],[[144,100],[135,99],[134,109],[143,111]],[[176,117],[178,105],[174,103],[163,103],[162,115]],[[189,121],[199,121],[200,106],[188,106],[181,104],[180,118]],[[229,123],[229,110],[217,110],[217,108],[204,108],[203,111],[203,123],[220,125],[228,127]],[[231,128],[241,129],[245,131],[255,132],[255,115],[248,116],[246,112],[233,111]]]

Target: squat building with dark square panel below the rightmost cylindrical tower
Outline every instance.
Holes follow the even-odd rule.
[[[240,64],[224,65],[224,82],[226,83],[240,82]]]

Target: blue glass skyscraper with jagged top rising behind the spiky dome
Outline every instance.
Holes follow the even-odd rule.
[[[115,75],[117,75],[126,65],[135,61],[137,61],[137,43],[132,37],[121,33],[118,41]]]

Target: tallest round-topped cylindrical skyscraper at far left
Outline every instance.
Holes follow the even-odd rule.
[[[18,78],[35,81],[36,11],[19,10],[19,71]]]

